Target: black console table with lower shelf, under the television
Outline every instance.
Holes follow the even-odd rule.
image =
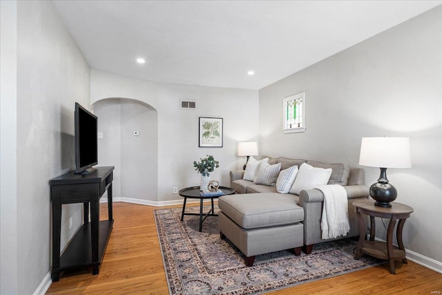
[[[99,273],[104,251],[111,237],[113,166],[96,167],[94,173],[81,175],[73,171],[49,181],[52,200],[52,281],[60,272],[92,266]],[[99,199],[108,191],[108,220],[99,221]],[[84,223],[60,256],[61,204],[83,203]],[[90,222],[88,218],[90,203]]]

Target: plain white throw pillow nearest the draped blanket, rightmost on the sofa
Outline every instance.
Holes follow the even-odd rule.
[[[316,189],[319,185],[327,184],[330,175],[332,175],[331,168],[318,168],[310,166],[307,163],[302,163],[299,167],[293,187],[290,189],[290,193],[299,195],[303,189]]]

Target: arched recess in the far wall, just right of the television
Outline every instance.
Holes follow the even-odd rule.
[[[99,166],[115,166],[114,197],[157,201],[155,108],[135,99],[106,98],[95,102],[93,110],[98,117]]]

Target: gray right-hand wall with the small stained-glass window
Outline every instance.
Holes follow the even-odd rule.
[[[409,255],[442,269],[441,6],[260,90],[260,153],[358,166],[361,137],[410,137],[411,169],[388,169]],[[305,133],[282,134],[282,99],[305,91]],[[363,167],[371,185],[379,169]],[[381,222],[378,222],[378,224]],[[385,229],[376,234],[385,239]],[[428,261],[427,261],[428,263]]]

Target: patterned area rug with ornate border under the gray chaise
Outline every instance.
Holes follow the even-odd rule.
[[[186,208],[186,213],[191,211],[199,213],[199,207]],[[209,206],[204,206],[207,211]],[[180,219],[180,208],[155,210],[171,294],[262,294],[383,263],[368,256],[355,260],[356,241],[344,239],[315,245],[310,255],[259,255],[253,267],[246,267],[242,253],[220,239],[218,217],[207,217],[201,233],[199,216]]]

